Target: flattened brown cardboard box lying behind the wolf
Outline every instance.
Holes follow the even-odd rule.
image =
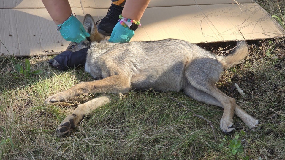
[[[177,38],[191,43],[283,37],[283,28],[254,0],[151,0],[131,41]],[[109,0],[69,0],[83,22],[89,13],[97,21],[107,14]],[[39,0],[0,1],[0,52],[34,56],[64,51],[69,42]]]

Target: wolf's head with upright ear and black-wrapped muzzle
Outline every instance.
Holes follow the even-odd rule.
[[[97,31],[94,19],[90,14],[85,15],[83,27],[90,34],[90,37],[87,37],[80,43],[71,42],[66,51],[48,61],[52,67],[57,68],[58,70],[66,70],[68,67],[83,66],[85,64],[87,50],[90,47],[91,42],[100,42],[105,38],[104,35]]]

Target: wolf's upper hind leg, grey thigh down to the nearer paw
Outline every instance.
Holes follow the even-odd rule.
[[[184,74],[193,87],[207,93],[204,94],[204,96],[206,95],[211,101],[208,99],[202,100],[203,102],[209,103],[207,101],[210,101],[211,104],[224,108],[220,128],[226,134],[232,134],[235,132],[233,117],[236,103],[234,98],[225,95],[215,86],[216,82],[219,80],[221,71],[222,64],[217,59],[205,56],[191,61]]]

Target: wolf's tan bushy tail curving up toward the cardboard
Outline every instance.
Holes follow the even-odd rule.
[[[248,55],[248,46],[246,44],[246,41],[240,41],[237,45],[238,47],[235,48],[235,50],[232,51],[229,55],[217,56],[217,59],[222,63],[225,69],[239,64],[240,61]]]

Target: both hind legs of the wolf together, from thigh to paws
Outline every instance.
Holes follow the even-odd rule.
[[[193,90],[192,93],[188,91],[188,95],[198,101],[224,108],[220,128],[227,134],[235,131],[233,127],[234,114],[240,117],[248,127],[257,127],[258,120],[241,109],[234,98],[227,96],[216,88],[215,84],[219,80],[221,68],[220,63],[210,58],[197,59],[191,62],[185,70],[185,76],[190,83],[188,89]]]

